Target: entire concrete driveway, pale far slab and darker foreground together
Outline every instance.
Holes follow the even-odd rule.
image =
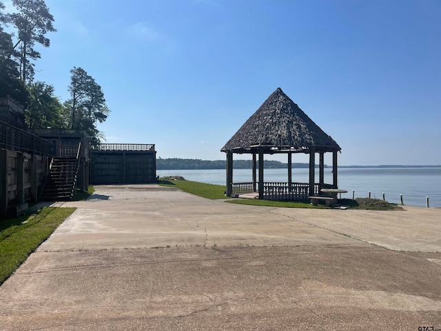
[[[0,330],[441,330],[441,210],[101,185],[0,287]]]

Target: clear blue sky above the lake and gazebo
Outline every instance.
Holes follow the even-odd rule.
[[[340,165],[441,165],[439,0],[45,2],[58,31],[35,79],[65,101],[74,66],[92,75],[109,143],[225,159],[280,87],[338,142]]]

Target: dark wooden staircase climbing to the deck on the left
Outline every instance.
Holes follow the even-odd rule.
[[[63,146],[61,157],[50,162],[48,177],[41,193],[41,200],[66,201],[76,193],[76,179],[79,169],[79,146]]]

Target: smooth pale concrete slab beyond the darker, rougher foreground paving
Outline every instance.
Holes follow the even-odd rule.
[[[391,250],[441,252],[441,209],[435,208],[271,208],[203,199],[157,185],[101,185],[88,201],[60,205],[79,210],[41,250],[365,241]]]

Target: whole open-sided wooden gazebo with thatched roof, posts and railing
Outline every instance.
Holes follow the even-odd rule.
[[[226,195],[258,192],[258,199],[303,200],[320,193],[322,188],[338,188],[338,143],[312,121],[289,97],[277,88],[249,117],[220,150],[227,154]],[[324,154],[332,152],[333,183],[324,183]],[[252,154],[252,182],[233,183],[233,153]],[[287,154],[287,182],[264,182],[265,154]],[[309,183],[292,181],[292,154],[309,154]],[[316,183],[316,154],[319,157],[319,179]],[[256,156],[258,155],[258,181]]]

